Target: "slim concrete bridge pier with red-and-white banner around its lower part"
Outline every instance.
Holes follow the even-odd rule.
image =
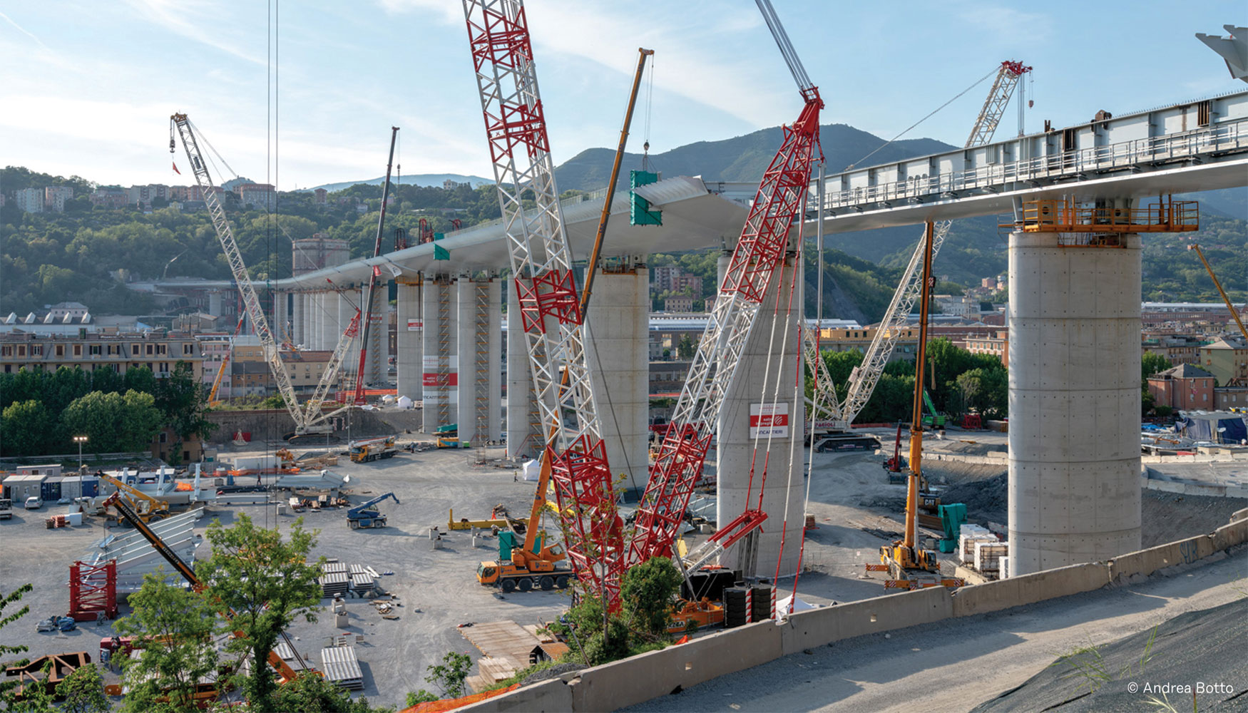
[[[423,288],[424,332],[422,398],[424,430],[459,422],[458,282],[451,275],[427,275]]]

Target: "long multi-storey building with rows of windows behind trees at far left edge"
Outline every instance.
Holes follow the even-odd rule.
[[[77,335],[0,333],[0,367],[5,372],[41,368],[56,371],[65,366],[85,371],[112,368],[125,373],[129,368],[146,366],[157,377],[168,376],[177,362],[191,365],[198,381],[203,357],[195,337],[183,332],[99,333],[80,331]]]

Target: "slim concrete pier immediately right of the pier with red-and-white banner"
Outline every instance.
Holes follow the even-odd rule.
[[[461,277],[456,288],[454,338],[462,380],[456,411],[461,441],[503,437],[503,296],[498,278]]]

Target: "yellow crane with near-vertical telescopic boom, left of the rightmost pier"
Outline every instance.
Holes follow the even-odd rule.
[[[931,300],[934,226],[927,221],[924,236],[922,260],[922,297],[919,320],[919,353],[915,358],[915,398],[910,422],[910,462],[906,478],[906,527],[902,539],[880,548],[880,564],[867,564],[867,572],[887,572],[886,588],[919,589],[922,587],[961,587],[963,582],[941,577],[940,559],[930,549],[917,544],[916,528],[919,522],[920,481],[922,479],[924,451],[924,365],[927,358],[927,308]],[[929,496],[930,497],[930,496]],[[938,501],[937,501],[938,502]]]

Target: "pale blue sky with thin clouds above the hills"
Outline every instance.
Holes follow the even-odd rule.
[[[827,102],[824,122],[885,137],[1005,59],[1036,67],[1028,130],[1246,89],[1193,37],[1248,24],[1242,1],[774,2]],[[638,46],[655,50],[653,152],[800,110],[750,0],[530,0],[527,11],[557,164],[615,145]],[[392,125],[403,174],[492,177],[461,2],[282,2],[276,169],[268,17],[256,0],[0,0],[0,162],[190,182],[167,149],[168,115],[186,111],[236,171],[282,190],[382,175]],[[961,144],[986,92],[907,137]],[[643,97],[630,150],[645,116]],[[1017,131],[1012,106],[1001,131]]]

